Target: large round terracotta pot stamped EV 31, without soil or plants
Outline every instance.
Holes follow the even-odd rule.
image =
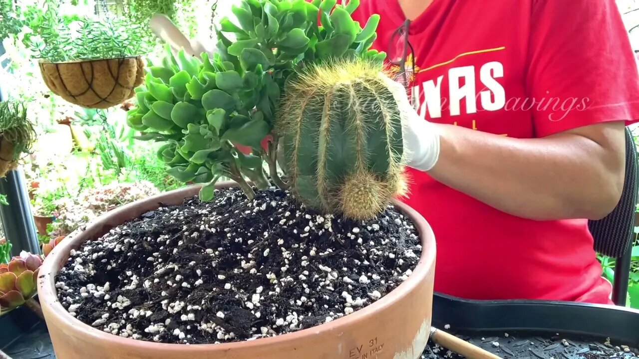
[[[220,186],[229,186],[224,183]],[[417,359],[429,339],[435,275],[435,238],[423,217],[404,204],[423,251],[412,275],[377,302],[330,323],[278,337],[227,344],[162,344],[119,337],[70,316],[58,302],[55,276],[70,250],[95,240],[160,203],[181,204],[199,186],[181,188],[127,204],[105,214],[82,232],[70,234],[40,268],[38,295],[58,359]]]

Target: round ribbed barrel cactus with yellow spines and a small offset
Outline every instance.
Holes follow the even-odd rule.
[[[388,78],[351,58],[289,81],[276,126],[289,185],[309,208],[366,219],[404,194],[401,108]]]

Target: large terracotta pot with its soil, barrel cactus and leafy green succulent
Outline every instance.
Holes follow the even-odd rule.
[[[58,356],[420,357],[435,243],[395,199],[401,111],[369,50],[379,17],[362,28],[355,8],[244,0],[219,54],[150,66],[128,123],[164,143],[172,176],[204,185],[111,211],[50,252],[38,287]]]

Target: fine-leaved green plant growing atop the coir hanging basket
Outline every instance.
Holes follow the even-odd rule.
[[[77,31],[70,21],[59,17],[59,4],[45,0],[45,10],[39,19],[40,39],[33,41],[35,57],[58,63],[91,59],[139,56],[148,52],[142,26],[130,19],[112,16],[108,19],[76,17]]]

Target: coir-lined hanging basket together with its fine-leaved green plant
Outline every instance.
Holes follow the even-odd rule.
[[[144,42],[140,26],[122,17],[84,17],[65,26],[58,4],[47,0],[47,11],[34,42],[47,87],[66,101],[86,108],[106,109],[134,96],[144,77]],[[71,31],[77,27],[76,31]]]

